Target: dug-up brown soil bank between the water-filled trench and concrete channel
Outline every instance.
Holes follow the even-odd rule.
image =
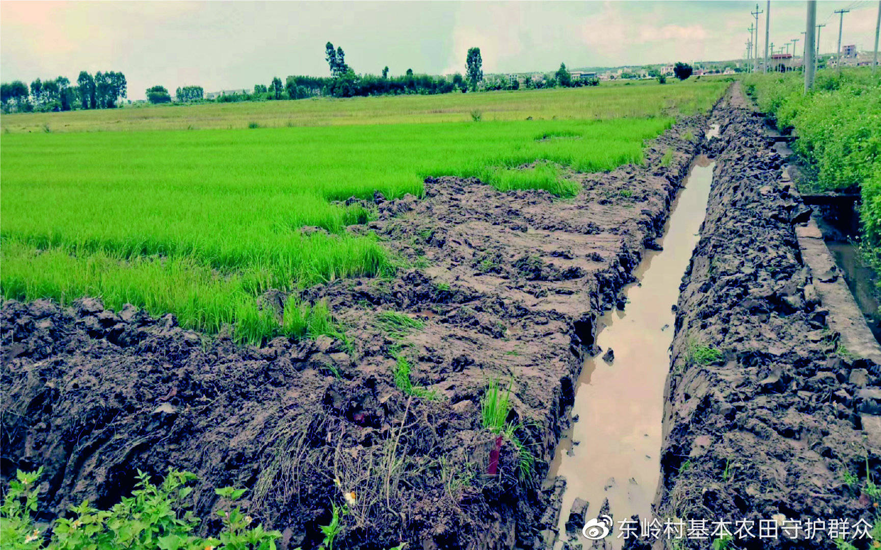
[[[857,520],[877,519],[866,488],[867,469],[881,479],[881,370],[844,353],[826,325],[812,282],[827,275],[803,265],[796,241],[810,210],[781,180],[762,117],[737,96],[717,113],[707,218],[678,302],[656,516],[726,520],[732,533],[755,522],[751,538],[735,534],[738,548],[830,548],[830,520],[848,519],[844,536],[870,547],[849,539]],[[760,520],[777,534],[759,539]],[[812,520],[825,520],[812,539],[794,531]]]

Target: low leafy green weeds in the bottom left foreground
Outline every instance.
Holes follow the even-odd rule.
[[[161,485],[138,472],[137,487],[128,498],[110,510],[97,510],[83,502],[70,511],[73,519],[59,517],[50,529],[41,532],[31,514],[37,511],[42,468],[37,472],[19,470],[0,506],[0,540],[4,548],[15,550],[275,550],[278,531],[266,531],[263,524],[251,527],[253,519],[241,509],[218,511],[224,528],[217,538],[203,539],[193,534],[199,518],[183,510],[183,502],[193,488],[196,475],[170,470]],[[245,489],[216,489],[233,502]],[[49,533],[51,531],[51,533]]]

